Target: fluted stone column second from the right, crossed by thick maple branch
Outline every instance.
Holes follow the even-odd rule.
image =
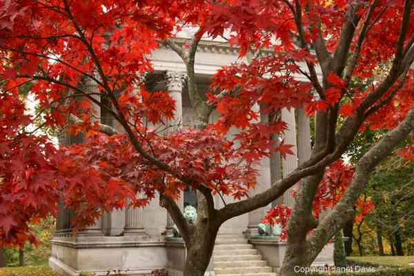
[[[287,155],[286,159],[282,161],[283,177],[286,177],[290,172],[293,172],[297,168],[297,144],[296,144],[296,121],[295,121],[295,110],[291,108],[287,110],[286,108],[282,109],[282,121],[285,121],[288,124],[288,130],[283,137],[284,144],[293,145],[290,148],[295,155]],[[293,197],[292,197],[292,188],[286,190],[283,196],[283,204],[293,207]]]

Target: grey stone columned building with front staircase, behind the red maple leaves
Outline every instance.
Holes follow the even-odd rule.
[[[192,30],[184,30],[177,37],[177,43],[186,43]],[[207,90],[210,77],[221,68],[237,61],[237,49],[230,48],[219,39],[202,39],[196,55],[195,73],[199,89]],[[157,82],[148,83],[152,90],[166,89],[176,99],[177,121],[181,127],[192,125],[195,112],[190,106],[186,82],[186,68],[180,57],[168,48],[159,48],[152,54],[152,63]],[[154,79],[154,78],[153,78]],[[93,83],[88,87],[97,89]],[[257,108],[259,108],[257,106]],[[296,116],[295,116],[296,113]],[[112,124],[108,116],[101,112],[101,121]],[[211,120],[217,119],[213,112]],[[262,118],[264,119],[264,118]],[[310,154],[309,124],[303,112],[282,111],[282,119],[288,123],[284,137],[286,144],[295,145],[293,150]],[[298,126],[296,126],[298,124]],[[114,126],[116,127],[116,126]],[[297,135],[296,132],[300,132]],[[231,134],[230,134],[231,135]],[[63,137],[61,143],[71,144],[81,141],[81,137]],[[306,156],[299,159],[306,159]],[[252,195],[270,187],[271,179],[277,177],[276,170],[282,167],[282,175],[287,175],[297,167],[297,156],[290,155],[282,161],[282,166],[264,160],[257,179],[257,187]],[[233,199],[226,197],[226,202]],[[286,193],[279,202],[292,205],[293,199]],[[189,190],[181,197],[179,205],[195,204],[195,197]],[[216,208],[222,201],[217,197]],[[270,206],[268,206],[270,208]],[[213,257],[206,274],[208,275],[275,275],[282,264],[286,244],[278,239],[249,239],[257,235],[257,225],[264,216],[266,208],[241,215],[226,221],[219,230]],[[61,275],[79,275],[83,271],[107,275],[108,270],[121,270],[131,275],[147,275],[152,270],[166,268],[170,275],[182,275],[185,262],[185,246],[180,241],[166,240],[171,233],[172,219],[166,209],[159,206],[156,197],[146,208],[127,208],[105,214],[90,226],[72,236],[69,210],[61,208],[55,237],[52,239],[52,256],[49,264]],[[328,244],[319,255],[315,264],[332,264],[332,245]]]

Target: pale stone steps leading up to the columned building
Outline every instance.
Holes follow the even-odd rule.
[[[217,276],[276,276],[262,255],[242,235],[217,237],[213,251]]]

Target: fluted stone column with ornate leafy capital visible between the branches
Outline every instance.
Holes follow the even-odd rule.
[[[175,99],[174,119],[168,120],[166,122],[166,135],[168,135],[168,133],[179,130],[183,124],[182,91],[184,87],[185,76],[186,75],[184,72],[168,71],[166,73],[166,86],[168,93],[172,99]],[[184,193],[177,200],[177,205],[181,210],[184,208]],[[174,226],[174,221],[172,220],[170,214],[167,213],[167,226],[164,233],[165,235],[172,235],[172,226]]]

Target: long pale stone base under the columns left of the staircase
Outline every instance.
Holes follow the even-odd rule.
[[[149,275],[167,264],[165,242],[148,236],[55,237],[51,244],[49,265],[63,276],[82,272],[107,275],[113,270]]]

